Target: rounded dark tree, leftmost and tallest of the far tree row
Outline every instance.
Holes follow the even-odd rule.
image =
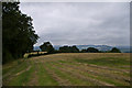
[[[43,52],[47,52],[47,53],[54,53],[54,47],[53,45],[50,43],[50,42],[45,42],[44,44],[42,44],[40,46],[40,48],[43,51]]]

